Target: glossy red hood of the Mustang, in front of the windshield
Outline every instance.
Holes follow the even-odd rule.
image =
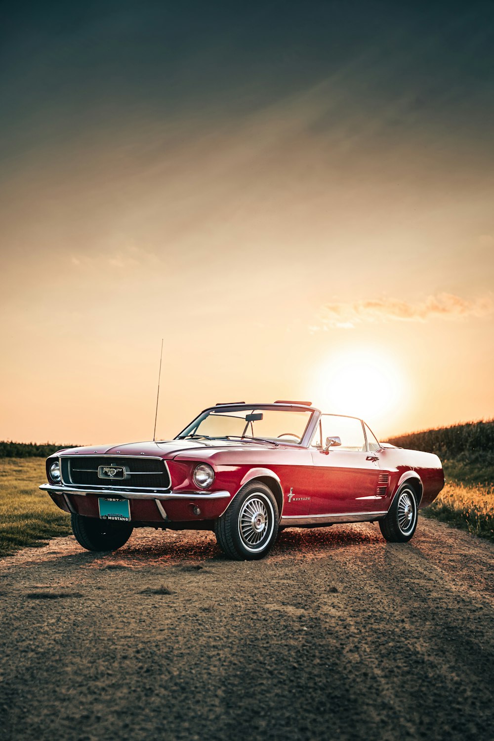
[[[284,445],[279,445],[284,448]],[[287,446],[288,447],[288,446]],[[208,459],[218,451],[259,451],[275,450],[269,443],[240,442],[234,440],[164,440],[160,442],[125,442],[120,445],[85,445],[81,448],[64,448],[56,455],[122,455],[122,456],[160,456],[172,459],[180,454],[188,457],[193,451],[194,458]]]

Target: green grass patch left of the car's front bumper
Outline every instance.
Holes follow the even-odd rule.
[[[0,459],[0,556],[70,534],[70,515],[39,491],[46,480],[44,459]]]

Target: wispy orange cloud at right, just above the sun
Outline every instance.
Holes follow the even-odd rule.
[[[367,299],[353,303],[333,302],[325,304],[318,313],[318,325],[310,327],[316,331],[329,327],[353,329],[363,322],[427,322],[430,319],[466,319],[494,313],[494,301],[490,295],[478,299],[462,299],[452,293],[428,296],[422,302],[411,303],[398,299]]]

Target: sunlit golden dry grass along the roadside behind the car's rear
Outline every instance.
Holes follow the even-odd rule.
[[[430,507],[421,510],[473,535],[494,540],[494,487],[447,483]]]

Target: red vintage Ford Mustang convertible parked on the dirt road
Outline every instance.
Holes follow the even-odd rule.
[[[335,522],[376,521],[407,542],[444,486],[432,453],[291,401],[217,404],[173,440],[61,450],[47,477],[40,488],[89,551],[119,548],[133,528],[207,529],[238,560],[266,555],[283,528]]]

